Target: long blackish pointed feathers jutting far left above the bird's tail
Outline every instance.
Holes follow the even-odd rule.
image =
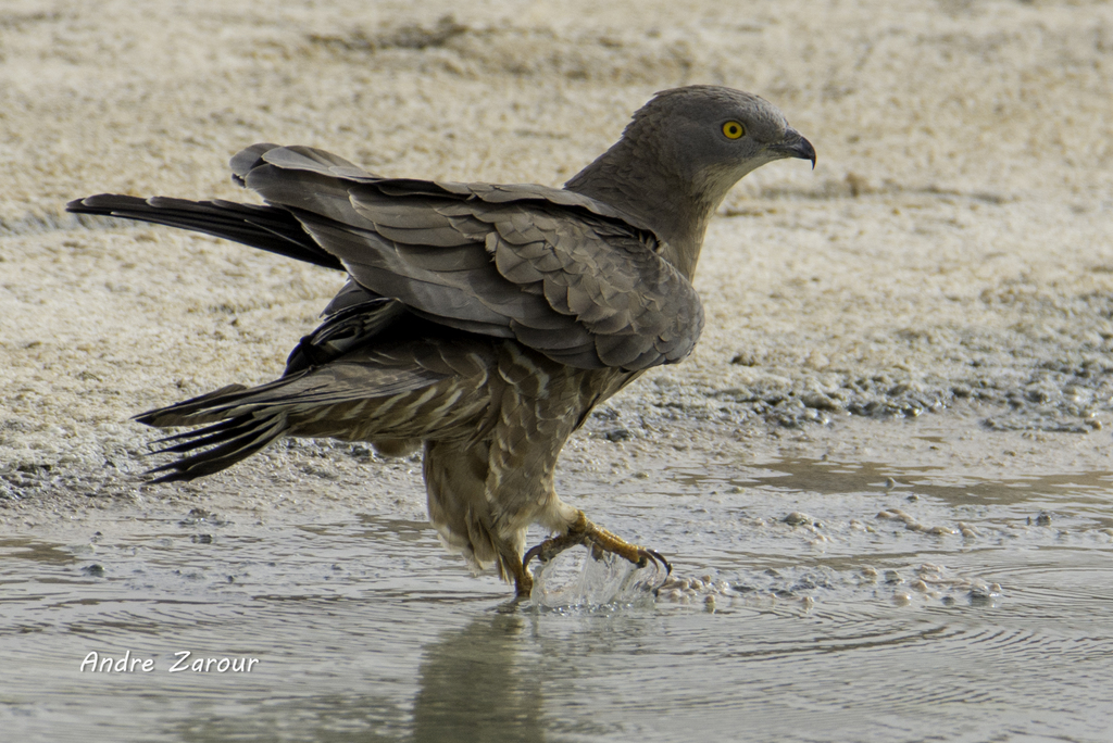
[[[205,232],[316,266],[344,270],[344,265],[322,249],[294,215],[277,207],[223,200],[189,201],[166,196],[141,199],[99,194],[70,201],[66,210]]]

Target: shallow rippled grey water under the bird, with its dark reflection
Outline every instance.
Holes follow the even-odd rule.
[[[1104,742],[1111,481],[796,460],[600,486],[577,505],[687,583],[593,610],[510,604],[381,515],[9,536],[2,737]],[[184,652],[258,662],[171,673]]]

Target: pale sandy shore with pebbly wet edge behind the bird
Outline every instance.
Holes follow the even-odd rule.
[[[728,197],[697,276],[696,355],[597,414],[565,488],[631,476],[639,457],[1109,468],[1109,4],[273,4],[0,10],[11,528],[139,499],[275,512],[293,489],[311,511],[421,509],[414,462],[349,445],[140,489],[154,436],[129,416],[273,378],[339,279],[204,236],[77,222],[67,200],[245,198],[226,164],[256,141],[385,175],[559,185],[654,91],[691,82],[768,98],[818,167],[776,164]]]

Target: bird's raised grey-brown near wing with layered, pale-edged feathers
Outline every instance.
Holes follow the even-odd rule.
[[[684,358],[702,329],[699,297],[657,237],[585,196],[380,178],[305,147],[256,145],[233,169],[359,286],[442,325],[630,370]]]

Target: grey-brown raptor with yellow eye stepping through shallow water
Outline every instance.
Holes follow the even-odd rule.
[[[759,96],[721,86],[656,93],[563,188],[394,178],[304,146],[258,143],[233,179],[263,204],[101,194],[67,210],[205,232],[345,271],[282,376],[139,414],[191,427],[154,482],[211,475],[284,436],[422,449],[429,517],[474,571],[518,597],[530,563],[583,545],[671,569],[565,504],[561,448],[592,408],[689,356],[708,222],[743,176],[811,143]],[[526,531],[550,536],[525,549]]]

